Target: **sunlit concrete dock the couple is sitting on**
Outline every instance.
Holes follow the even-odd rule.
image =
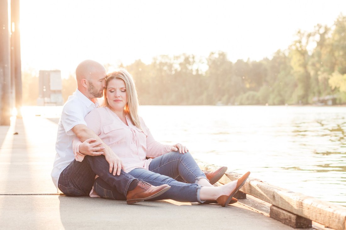
[[[50,176],[57,121],[30,114],[0,126],[0,229],[292,229],[242,200],[224,208],[58,195]]]

